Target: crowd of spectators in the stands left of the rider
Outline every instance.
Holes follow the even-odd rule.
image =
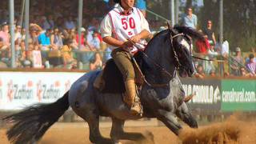
[[[15,1],[15,10],[20,10],[22,1]],[[16,67],[33,67],[34,51],[42,56],[42,67],[64,66],[77,68],[86,65],[90,70],[102,67],[104,51],[99,23],[110,10],[111,2],[86,0],[83,6],[82,46],[78,47],[78,2],[69,0],[30,1],[29,44],[26,48],[25,22],[15,13],[15,64]],[[98,10],[98,8],[101,10]],[[54,10],[54,11],[53,11]],[[0,6],[0,67],[10,66],[10,27],[8,2]],[[88,52],[88,53],[87,53]],[[93,53],[94,52],[94,53]],[[80,63],[78,63],[80,62]]]

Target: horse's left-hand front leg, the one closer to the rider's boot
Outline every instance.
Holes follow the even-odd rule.
[[[174,134],[178,135],[179,130],[182,126],[178,123],[175,114],[166,110],[158,110],[157,118],[159,121],[163,122]]]

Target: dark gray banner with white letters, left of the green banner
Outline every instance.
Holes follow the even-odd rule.
[[[192,109],[218,111],[221,109],[221,80],[182,78],[186,95],[196,94],[188,102]]]

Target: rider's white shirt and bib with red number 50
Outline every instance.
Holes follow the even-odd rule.
[[[138,10],[138,8],[134,7],[128,15],[123,15],[123,11],[124,10],[122,9],[122,6],[118,5],[116,8],[114,8],[114,10],[111,10],[109,14],[106,14],[106,17],[102,20],[100,29],[102,38],[113,37],[117,38],[122,42],[125,42],[126,39],[130,38],[135,34],[139,34],[142,30],[147,30],[150,32],[148,22],[146,21],[146,18],[144,17],[142,12]],[[130,24],[130,18],[134,18],[134,21],[136,23],[136,30],[130,29],[130,26],[133,26],[133,23]],[[124,19],[123,22],[122,19]],[[128,27],[127,30],[130,31],[127,31],[126,33],[126,30],[122,30],[122,27]],[[130,34],[130,32],[132,34]],[[112,46],[111,48],[113,49],[116,47]]]

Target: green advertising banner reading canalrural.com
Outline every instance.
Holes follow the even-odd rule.
[[[222,80],[222,111],[256,110],[256,80]]]

